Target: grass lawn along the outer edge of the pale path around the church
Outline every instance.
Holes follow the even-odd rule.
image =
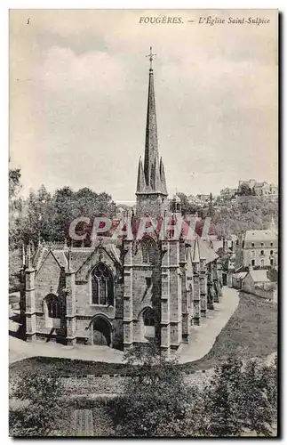
[[[209,369],[229,357],[249,359],[266,357],[277,351],[277,305],[259,297],[240,295],[235,313],[217,337],[210,352],[203,359],[179,365],[185,371]],[[10,376],[19,373],[44,372],[60,376],[85,376],[94,374],[125,374],[136,372],[120,363],[103,363],[50,357],[32,357],[10,365]]]

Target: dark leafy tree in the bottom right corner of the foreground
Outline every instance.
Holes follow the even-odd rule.
[[[246,432],[271,436],[277,409],[276,364],[228,359],[215,368],[205,397],[207,435],[239,436]]]

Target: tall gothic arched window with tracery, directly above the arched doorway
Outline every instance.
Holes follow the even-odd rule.
[[[92,304],[114,303],[114,280],[104,263],[99,263],[92,271]]]

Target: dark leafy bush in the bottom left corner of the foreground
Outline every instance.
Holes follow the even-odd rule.
[[[52,435],[60,417],[60,395],[58,377],[36,373],[22,376],[11,396],[24,402],[25,406],[10,411],[10,434],[38,437]]]

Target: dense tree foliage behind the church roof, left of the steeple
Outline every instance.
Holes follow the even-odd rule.
[[[108,193],[96,193],[84,188],[74,191],[63,187],[54,193],[42,185],[37,191],[30,191],[27,199],[22,199],[20,212],[10,231],[10,245],[20,247],[21,243],[39,239],[63,242],[68,239],[69,226],[79,216],[91,219],[99,215],[112,217],[116,214],[116,204]]]

